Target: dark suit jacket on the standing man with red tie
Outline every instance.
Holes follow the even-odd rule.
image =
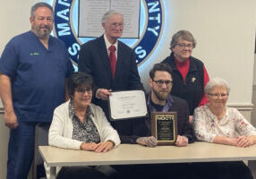
[[[134,53],[131,47],[118,41],[115,78],[113,79],[104,36],[90,40],[81,46],[78,70],[92,75],[95,91],[107,90],[143,90]],[[92,102],[102,107],[107,117],[107,101],[93,98]]]

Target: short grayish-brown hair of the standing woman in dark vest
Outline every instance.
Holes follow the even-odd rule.
[[[178,45],[179,38],[183,38],[183,40],[192,42],[193,48],[196,47],[196,40],[195,38],[193,38],[192,33],[188,30],[179,30],[173,35],[173,38],[170,44],[171,48],[174,48],[176,45]]]

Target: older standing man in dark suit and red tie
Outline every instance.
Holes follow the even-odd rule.
[[[143,86],[132,48],[117,40],[124,30],[123,14],[105,13],[102,27],[104,35],[81,46],[78,69],[93,76],[96,85],[93,103],[102,107],[109,117],[107,97],[111,91],[143,90]]]

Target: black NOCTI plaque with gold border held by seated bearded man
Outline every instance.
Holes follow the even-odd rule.
[[[151,112],[151,135],[158,145],[174,145],[177,138],[177,115],[175,112]]]

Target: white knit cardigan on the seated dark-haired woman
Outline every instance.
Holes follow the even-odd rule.
[[[55,146],[64,149],[80,149],[83,141],[73,140],[73,122],[69,117],[69,102],[65,102],[55,108],[52,124],[49,129],[48,141],[50,146]],[[93,104],[90,104],[93,115],[90,115],[92,122],[97,127],[100,141],[114,141],[115,147],[120,144],[120,138],[115,129],[108,123],[107,117],[103,110]],[[49,178],[50,168],[44,163],[46,168],[47,178]],[[61,167],[56,168],[56,172],[60,171]]]

